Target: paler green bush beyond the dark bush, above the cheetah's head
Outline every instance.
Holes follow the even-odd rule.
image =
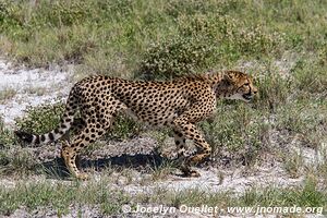
[[[284,43],[282,33],[265,29],[259,24],[249,25],[229,15],[182,16],[179,26],[184,36],[207,36],[206,43],[216,41],[216,49],[226,47],[240,55],[267,55],[281,49]]]

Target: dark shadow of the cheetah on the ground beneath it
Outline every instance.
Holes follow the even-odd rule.
[[[80,159],[78,169],[82,171],[87,171],[88,169],[95,169],[96,171],[102,171],[108,167],[114,167],[118,169],[129,168],[135,170],[144,169],[157,169],[164,165],[165,161],[169,159],[161,157],[159,154],[152,155],[121,155],[116,157],[99,158],[96,160]],[[68,171],[62,158],[57,157],[51,161],[46,161],[41,164],[41,167],[49,178],[68,180],[70,179],[70,172]]]

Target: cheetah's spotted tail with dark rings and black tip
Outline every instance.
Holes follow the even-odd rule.
[[[70,129],[74,121],[74,114],[76,112],[77,99],[73,95],[73,92],[70,93],[68,102],[65,106],[65,112],[61,119],[61,122],[58,128],[46,134],[31,134],[24,131],[15,131],[15,135],[23,142],[31,145],[43,145],[49,142],[53,142],[62,137]]]

